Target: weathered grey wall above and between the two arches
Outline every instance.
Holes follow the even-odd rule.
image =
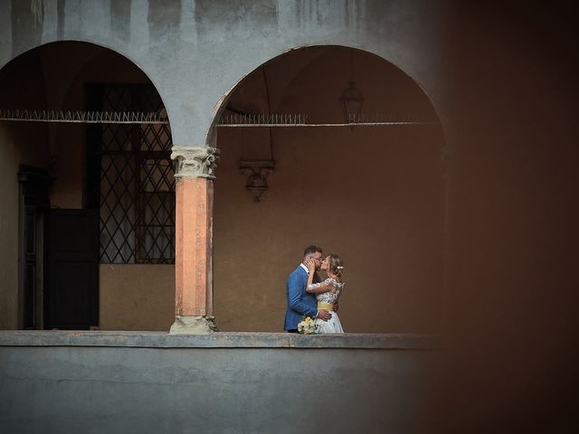
[[[249,71],[289,49],[363,48],[393,61],[440,102],[446,2],[2,2],[0,67],[40,43],[109,47],[147,73],[164,99],[177,145],[202,146],[214,106]],[[203,90],[203,91],[199,91]]]

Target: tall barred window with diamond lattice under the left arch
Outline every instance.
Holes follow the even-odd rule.
[[[152,85],[91,84],[87,108],[161,111]],[[87,206],[100,209],[100,263],[175,263],[175,178],[168,125],[87,127]]]

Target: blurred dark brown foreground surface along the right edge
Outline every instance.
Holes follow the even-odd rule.
[[[462,3],[451,34],[441,433],[579,429],[574,16]]]

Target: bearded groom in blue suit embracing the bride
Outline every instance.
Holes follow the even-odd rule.
[[[311,258],[316,262],[316,271],[322,263],[322,250],[318,246],[309,246],[304,250],[304,259],[290,275],[286,282],[286,296],[288,298],[288,308],[283,329],[289,333],[298,333],[298,323],[303,316],[311,318],[321,318],[327,321],[332,314],[323,309],[318,309],[318,301],[314,294],[306,292],[308,283],[308,267],[306,259]],[[318,281],[318,274],[314,276],[314,282]]]

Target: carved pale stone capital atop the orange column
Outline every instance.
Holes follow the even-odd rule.
[[[220,149],[210,146],[173,146],[171,151],[171,159],[176,161],[176,178],[215,178]]]

